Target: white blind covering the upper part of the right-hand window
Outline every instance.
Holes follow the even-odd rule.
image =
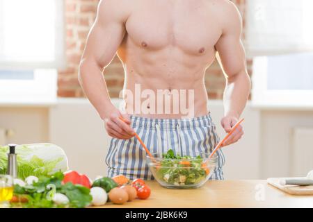
[[[313,51],[312,0],[246,2],[249,57]]]

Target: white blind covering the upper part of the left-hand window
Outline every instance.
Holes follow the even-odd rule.
[[[63,1],[0,1],[0,69],[60,68]]]

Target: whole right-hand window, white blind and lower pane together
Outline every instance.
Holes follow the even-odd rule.
[[[247,2],[252,103],[313,108],[313,1]]]

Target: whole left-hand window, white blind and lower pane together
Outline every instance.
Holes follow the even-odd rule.
[[[0,1],[0,102],[56,99],[65,67],[62,0]]]

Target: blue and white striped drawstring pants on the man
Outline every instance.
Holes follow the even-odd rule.
[[[131,127],[150,153],[166,153],[169,149],[182,155],[211,153],[219,140],[210,114],[193,119],[150,119],[136,116],[131,116],[130,119]],[[218,164],[210,180],[223,180],[225,157],[221,149],[216,153]],[[135,137],[127,140],[111,139],[106,156],[108,176],[125,175],[131,180],[152,180],[145,156],[144,148]]]

